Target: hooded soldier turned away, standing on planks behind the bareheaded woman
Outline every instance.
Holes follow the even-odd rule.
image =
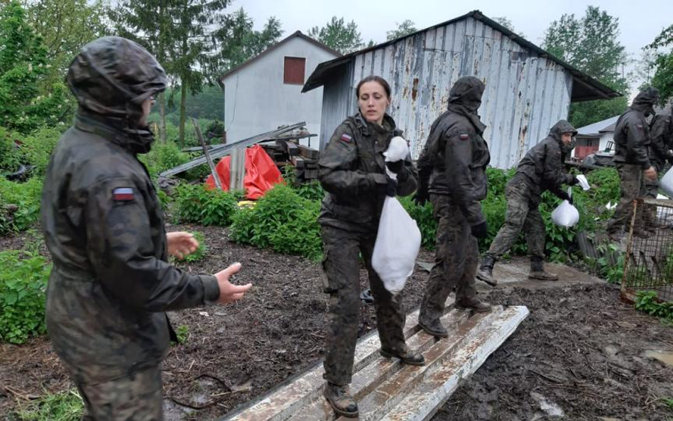
[[[484,88],[476,77],[456,81],[449,91],[448,109],[432,124],[417,163],[421,180],[417,202],[422,204],[429,196],[437,221],[435,264],[418,323],[437,337],[449,336],[439,318],[454,287],[457,307],[491,310],[476,297],[474,282],[477,239],[488,234],[481,200],[486,199],[486,166],[491,155],[482,137],[486,126],[477,114]]]

